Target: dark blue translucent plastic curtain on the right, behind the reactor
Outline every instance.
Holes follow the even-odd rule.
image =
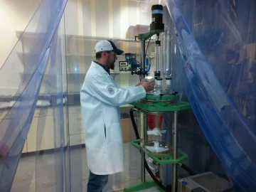
[[[256,188],[255,126],[249,127],[246,119],[250,113],[252,122],[255,111],[246,106],[240,110],[237,103],[243,89],[246,98],[255,91],[252,4],[166,1],[176,28],[176,63],[186,96],[208,142],[244,191]],[[245,65],[249,70],[242,69]]]

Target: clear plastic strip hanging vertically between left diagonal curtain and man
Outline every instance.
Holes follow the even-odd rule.
[[[63,86],[67,81],[64,17],[50,43],[50,50],[50,62],[48,62],[48,70],[44,75],[46,85],[42,94],[43,104],[36,132],[36,191],[46,191],[46,187],[42,185],[46,181],[54,183],[53,191],[71,191],[68,102],[65,103],[67,87]],[[44,105],[48,100],[48,95],[50,95],[50,105]],[[53,127],[47,127],[48,114],[51,114],[50,117],[53,119]],[[51,156],[42,149],[43,133],[49,128],[52,134],[48,135],[47,139],[44,138],[44,142],[54,142]]]

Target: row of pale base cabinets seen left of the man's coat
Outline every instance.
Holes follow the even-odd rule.
[[[49,107],[48,110],[41,110],[41,115],[43,116],[38,117],[40,110],[36,110],[28,132],[27,152],[58,148],[60,144],[67,144],[68,139],[70,140],[70,146],[85,143],[82,134],[80,105],[68,107],[68,128],[67,118],[64,113],[64,132],[60,131],[60,116],[55,114],[55,112],[52,107]],[[61,134],[63,134],[62,137]]]

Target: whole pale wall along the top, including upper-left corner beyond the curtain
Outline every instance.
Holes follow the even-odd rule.
[[[16,31],[26,28],[40,2],[0,1],[0,68],[18,41]],[[132,0],[68,0],[65,31],[75,36],[127,38],[129,26],[151,23],[151,4],[158,3],[159,0],[147,0],[144,4]]]

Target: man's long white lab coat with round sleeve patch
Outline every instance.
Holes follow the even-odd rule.
[[[142,86],[117,88],[102,66],[92,62],[80,94],[87,164],[97,175],[124,170],[119,105],[146,96]]]

